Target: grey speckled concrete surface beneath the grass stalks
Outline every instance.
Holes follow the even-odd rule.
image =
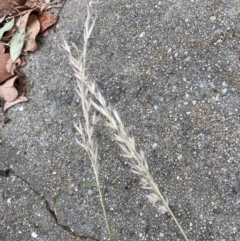
[[[240,240],[240,3],[100,1],[88,69],[147,156],[189,240]],[[107,240],[97,190],[73,122],[82,116],[61,36],[83,42],[84,3],[70,0],[24,69],[29,102],[1,123],[0,240]],[[114,240],[183,240],[130,173],[104,125],[100,180]],[[59,188],[74,183],[54,204]],[[34,237],[32,237],[32,236]],[[37,235],[37,237],[36,237]]]

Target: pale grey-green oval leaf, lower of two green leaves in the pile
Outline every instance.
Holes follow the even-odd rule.
[[[25,28],[20,28],[13,35],[10,41],[10,56],[11,56],[12,62],[14,62],[21,54],[23,44],[24,44],[25,34],[26,34]]]

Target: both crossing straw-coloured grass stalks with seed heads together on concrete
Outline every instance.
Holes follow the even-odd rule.
[[[117,110],[107,104],[104,96],[98,90],[95,81],[88,79],[86,73],[87,44],[96,20],[95,17],[92,17],[93,11],[93,2],[88,1],[87,15],[84,23],[84,45],[82,51],[80,52],[78,47],[73,44],[78,57],[73,57],[71,49],[65,40],[63,48],[69,57],[70,65],[77,79],[77,93],[81,99],[84,117],[83,123],[79,121],[78,124],[74,124],[81,136],[81,141],[77,140],[77,142],[87,152],[91,160],[96,181],[96,184],[94,185],[98,188],[109,239],[113,240],[113,234],[111,232],[110,221],[108,219],[104,193],[99,180],[98,143],[97,140],[93,138],[94,126],[97,125],[98,121],[100,120],[100,115],[103,117],[101,118],[101,121],[104,121],[107,128],[111,130],[114,140],[121,148],[122,156],[127,160],[128,165],[131,167],[131,171],[139,176],[141,187],[145,190],[148,190],[149,194],[147,197],[149,202],[154,204],[160,213],[163,214],[168,212],[182,233],[184,239],[188,240],[178,220],[169,208],[167,199],[164,198],[159,191],[158,185],[154,181],[154,178],[149,170],[148,162],[144,152],[136,149],[135,139],[132,135],[129,135],[126,132],[126,128]]]

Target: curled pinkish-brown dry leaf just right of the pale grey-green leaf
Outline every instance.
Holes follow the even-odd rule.
[[[27,22],[27,31],[25,45],[23,48],[24,52],[35,51],[37,49],[36,36],[40,31],[40,23],[35,14],[31,14]]]

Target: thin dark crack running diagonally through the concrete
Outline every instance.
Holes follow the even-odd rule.
[[[6,165],[6,163],[2,162],[5,166],[8,166]],[[70,227],[66,226],[66,225],[63,225],[63,224],[60,224],[58,222],[58,219],[57,219],[57,215],[55,213],[55,211],[53,209],[51,209],[51,206],[50,206],[50,203],[49,201],[42,195],[40,194],[37,190],[35,190],[31,184],[26,181],[23,177],[19,176],[15,171],[13,171],[12,169],[9,169],[9,174],[13,174],[14,176],[16,176],[17,178],[21,179],[24,183],[26,183],[28,185],[28,187],[35,193],[37,194],[44,202],[45,202],[45,207],[46,207],[46,210],[48,211],[48,213],[51,215],[51,217],[54,219],[55,223],[57,224],[57,226],[61,227],[63,230],[67,231],[68,233],[71,233],[73,236],[75,237],[80,237],[81,239],[86,239],[86,240],[94,240],[94,241],[100,241],[100,239],[97,239],[97,238],[94,238],[94,237],[90,237],[90,236],[86,236],[86,235],[80,235],[80,234],[77,234],[75,233]]]

